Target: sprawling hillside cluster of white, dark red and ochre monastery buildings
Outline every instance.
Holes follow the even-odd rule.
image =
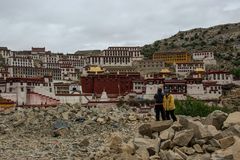
[[[145,59],[135,46],[75,54],[0,47],[0,58],[0,101],[18,106],[153,99],[159,87],[177,99],[218,100],[222,85],[233,81],[228,71],[206,70],[216,64],[213,52],[156,52]]]

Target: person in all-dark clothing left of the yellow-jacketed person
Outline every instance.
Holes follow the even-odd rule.
[[[162,89],[158,88],[157,93],[154,95],[154,99],[155,99],[155,117],[156,117],[156,121],[160,121],[160,112],[161,112],[161,117],[162,120],[166,120],[166,116],[165,116],[165,110],[163,107],[163,93],[162,93]]]

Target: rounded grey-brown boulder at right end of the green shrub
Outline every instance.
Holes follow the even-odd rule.
[[[228,114],[220,110],[213,111],[210,113],[205,121],[205,125],[213,125],[217,130],[220,130],[223,126],[223,122],[227,119]]]

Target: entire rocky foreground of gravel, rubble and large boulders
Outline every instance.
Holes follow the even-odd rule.
[[[240,112],[154,121],[128,107],[60,105],[0,113],[1,159],[240,159]]]

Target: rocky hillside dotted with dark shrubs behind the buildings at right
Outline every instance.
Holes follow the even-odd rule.
[[[145,45],[142,52],[151,57],[157,51],[214,51],[219,62],[239,67],[240,23],[180,31],[170,38]]]

